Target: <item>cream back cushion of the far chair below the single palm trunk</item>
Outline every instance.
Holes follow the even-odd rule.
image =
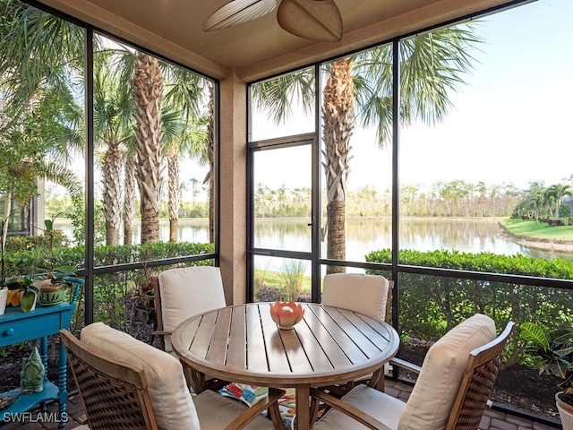
[[[380,275],[332,273],[324,277],[321,304],[384,321],[389,282]]]

